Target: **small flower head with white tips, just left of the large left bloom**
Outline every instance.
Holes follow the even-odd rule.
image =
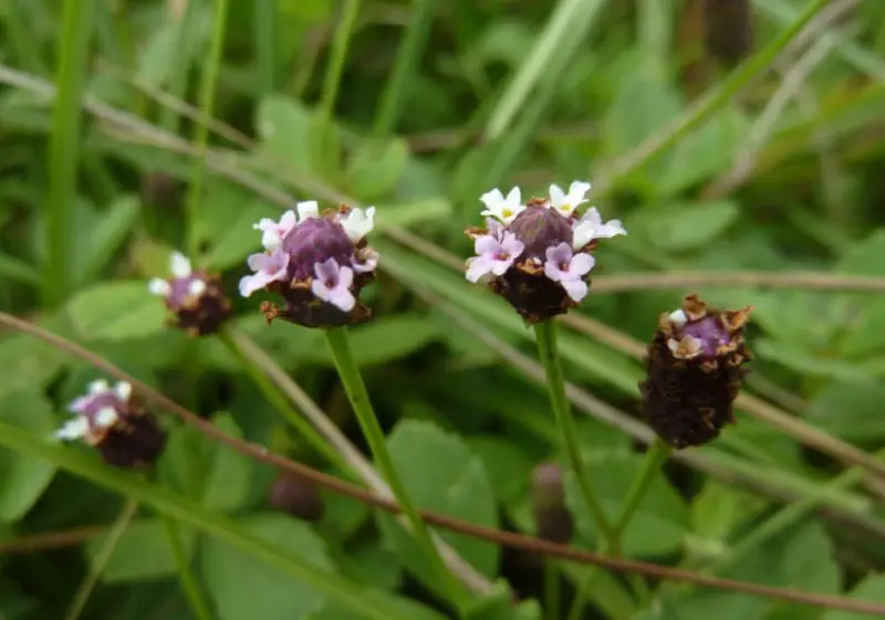
[[[215,334],[230,315],[230,300],[221,288],[221,280],[205,271],[194,271],[180,252],[169,259],[171,277],[154,277],[147,290],[163,297],[175,315],[173,324],[190,336]]]

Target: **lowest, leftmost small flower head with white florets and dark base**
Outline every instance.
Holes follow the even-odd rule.
[[[104,461],[117,467],[153,465],[166,445],[166,434],[154,416],[133,397],[132,386],[119,381],[90,383],[85,396],[70,407],[74,418],[55,437],[82,440],[98,450]]]

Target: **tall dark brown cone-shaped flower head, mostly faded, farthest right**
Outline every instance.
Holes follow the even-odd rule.
[[[752,359],[743,343],[750,312],[709,309],[689,295],[660,316],[639,389],[648,423],[671,446],[702,445],[735,422],[732,403]]]

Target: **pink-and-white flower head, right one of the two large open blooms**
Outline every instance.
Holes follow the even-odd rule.
[[[596,241],[627,233],[617,220],[603,222],[594,207],[581,213],[589,190],[582,181],[568,191],[550,186],[549,198],[524,204],[519,188],[507,196],[499,189],[483,193],[486,228],[466,231],[476,252],[467,261],[467,280],[488,282],[529,323],[580,304],[589,292]]]

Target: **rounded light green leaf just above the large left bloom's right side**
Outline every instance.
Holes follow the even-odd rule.
[[[364,202],[387,196],[396,187],[408,158],[408,146],[402,138],[364,140],[347,162],[347,186]]]

